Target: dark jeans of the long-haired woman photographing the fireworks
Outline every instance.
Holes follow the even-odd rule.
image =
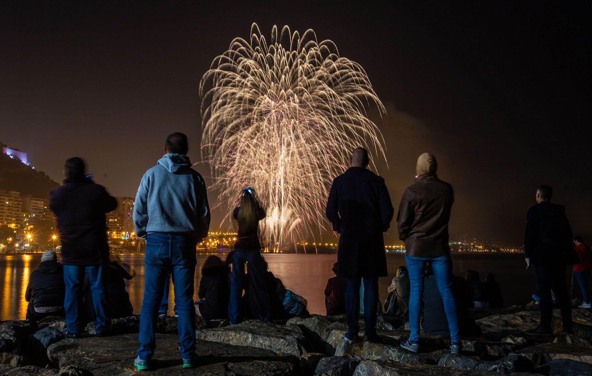
[[[258,249],[234,249],[232,259],[232,279],[230,282],[230,304],[228,306],[228,317],[230,324],[237,324],[242,321],[239,311],[240,297],[243,295],[244,287],[244,263],[247,263],[251,278],[250,288],[255,294],[255,302],[259,319],[268,323],[271,322],[269,313],[269,294],[265,283],[266,271],[261,263],[261,252]]]

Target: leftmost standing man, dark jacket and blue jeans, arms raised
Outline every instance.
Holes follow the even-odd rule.
[[[78,338],[80,327],[79,301],[85,274],[92,290],[95,305],[95,330],[98,336],[106,335],[108,319],[105,314],[105,287],[102,272],[109,258],[107,222],[105,213],[117,207],[117,200],[102,185],[86,178],[81,158],[66,160],[66,180],[62,187],[49,195],[49,207],[57,217],[57,229],[62,242],[62,264],[66,295],[66,326],[68,335]]]

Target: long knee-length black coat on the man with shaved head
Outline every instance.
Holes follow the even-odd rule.
[[[386,277],[382,233],[394,209],[384,179],[362,167],[350,167],[333,180],[327,218],[340,234],[337,276]]]

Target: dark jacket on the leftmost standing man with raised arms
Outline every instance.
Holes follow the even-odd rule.
[[[108,261],[105,213],[117,200],[91,179],[67,179],[49,194],[49,207],[56,214],[64,265],[98,265]]]

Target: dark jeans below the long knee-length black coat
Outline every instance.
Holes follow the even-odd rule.
[[[376,317],[378,307],[378,278],[363,278],[364,280],[364,322],[366,335],[376,334]],[[345,311],[348,315],[349,332],[358,334],[360,326],[360,287],[362,277],[348,278],[345,288]]]

